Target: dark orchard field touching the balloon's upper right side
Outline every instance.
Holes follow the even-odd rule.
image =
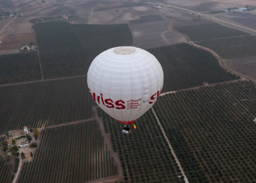
[[[162,65],[163,93],[202,86],[203,82],[212,84],[240,78],[225,71],[211,53],[189,44],[175,44],[147,51]]]

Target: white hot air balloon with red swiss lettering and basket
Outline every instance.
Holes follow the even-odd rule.
[[[163,69],[151,53],[120,46],[97,55],[88,69],[87,82],[97,105],[129,133],[129,125],[157,101],[163,88]]]

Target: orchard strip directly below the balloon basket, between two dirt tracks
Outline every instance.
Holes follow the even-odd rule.
[[[127,182],[180,182],[181,170],[170,151],[166,139],[152,111],[146,112],[129,135],[122,132],[122,124],[103,110],[104,128],[109,133],[113,150],[119,154],[123,175]]]

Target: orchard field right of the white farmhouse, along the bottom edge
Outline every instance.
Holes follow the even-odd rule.
[[[33,162],[24,163],[17,182],[82,183],[117,174],[116,162],[96,121],[49,128],[41,133]]]

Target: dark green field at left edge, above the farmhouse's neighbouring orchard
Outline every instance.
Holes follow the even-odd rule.
[[[0,55],[0,85],[41,79],[38,53]]]

